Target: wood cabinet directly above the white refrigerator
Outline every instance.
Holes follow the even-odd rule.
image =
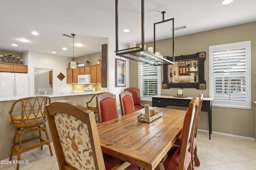
[[[0,63],[0,72],[28,73],[28,65]]]

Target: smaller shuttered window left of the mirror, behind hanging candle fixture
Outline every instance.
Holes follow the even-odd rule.
[[[140,100],[151,101],[161,93],[161,67],[138,62],[138,87]]]

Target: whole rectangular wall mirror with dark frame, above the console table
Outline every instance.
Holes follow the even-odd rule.
[[[166,57],[170,59],[172,57]],[[174,57],[174,65],[164,65],[163,89],[206,89],[204,80],[205,52]]]

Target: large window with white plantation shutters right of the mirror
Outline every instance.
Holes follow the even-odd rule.
[[[209,47],[212,106],[251,109],[250,41]]]

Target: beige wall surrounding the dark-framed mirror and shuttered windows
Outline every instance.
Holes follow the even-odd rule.
[[[198,96],[202,93],[204,97],[209,97],[209,46],[225,43],[251,41],[251,68],[252,68],[252,101],[256,100],[256,22],[247,24],[220,28],[206,32],[190,34],[186,36],[175,37],[175,55],[188,55],[201,51],[206,51],[206,61],[204,62],[204,75],[206,81],[206,90],[182,89],[184,95]],[[170,49],[170,39],[156,42],[157,50],[162,55],[169,55],[166,51]],[[147,47],[153,47],[153,43],[146,43]],[[170,50],[169,50],[170,51]],[[138,75],[138,64],[132,61],[130,64],[131,75]],[[163,79],[163,73],[161,73]],[[138,77],[130,77],[130,87],[138,87]],[[175,95],[178,88],[161,89],[161,95]],[[150,103],[151,104],[151,103]],[[208,114],[202,112],[200,116],[200,129],[208,130]],[[255,116],[254,105],[252,109],[234,109],[223,107],[212,107],[212,131],[234,134],[255,138]]]

